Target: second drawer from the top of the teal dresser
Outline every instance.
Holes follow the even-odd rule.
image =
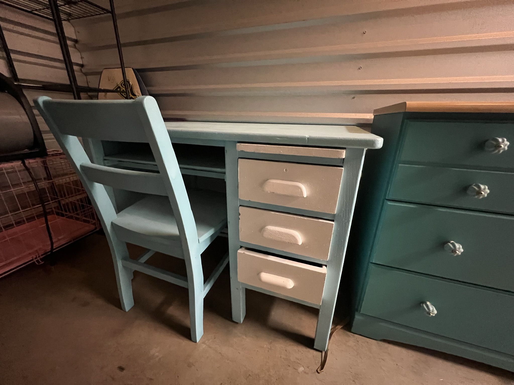
[[[468,194],[469,186],[486,185],[481,199]],[[389,190],[389,199],[514,213],[514,174],[508,172],[400,164]]]

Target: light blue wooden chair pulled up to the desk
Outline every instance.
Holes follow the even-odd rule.
[[[200,254],[227,224],[225,196],[214,191],[186,191],[168,131],[152,97],[113,101],[41,97],[34,102],[98,213],[111,248],[122,309],[128,311],[134,305],[134,270],[188,287],[191,339],[198,342],[204,334],[204,297],[228,262],[227,254],[204,283]],[[101,141],[149,143],[159,172],[96,164],[102,158],[98,153],[91,158],[99,161],[91,163],[77,137],[90,140],[93,152]],[[145,195],[116,213],[105,186]],[[149,250],[131,259],[125,242]],[[156,251],[183,258],[187,278],[145,264]]]

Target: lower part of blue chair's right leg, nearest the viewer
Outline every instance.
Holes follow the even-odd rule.
[[[200,255],[186,258],[189,286],[189,317],[191,339],[198,342],[204,335],[204,272]]]

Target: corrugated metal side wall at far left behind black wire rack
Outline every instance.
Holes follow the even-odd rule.
[[[36,84],[69,83],[53,22],[2,5],[0,5],[0,22],[11,51],[14,67],[21,81]],[[85,85],[87,81],[81,72],[82,59],[75,47],[75,30],[68,22],[64,23],[64,28],[68,36],[71,59],[75,64],[77,81]],[[0,50],[0,72],[11,76],[3,50]],[[25,91],[31,104],[33,104],[32,99],[41,94],[56,99],[73,99],[69,93]],[[38,118],[47,147],[59,148],[38,111],[34,109],[34,113]]]

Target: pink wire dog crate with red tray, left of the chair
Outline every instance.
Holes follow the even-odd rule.
[[[0,277],[29,263],[42,263],[51,249],[100,228],[94,207],[62,151],[0,164]],[[41,204],[44,202],[44,207]],[[51,237],[46,228],[45,213]]]

